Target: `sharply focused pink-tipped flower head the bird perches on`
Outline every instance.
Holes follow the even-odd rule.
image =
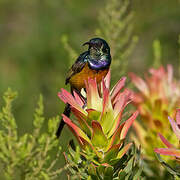
[[[134,112],[127,120],[124,118],[124,109],[130,103],[131,93],[122,88],[125,77],[121,78],[110,91],[110,73],[106,80],[102,80],[101,88],[98,88],[95,79],[86,82],[87,102],[73,92],[73,95],[61,89],[58,96],[65,103],[71,105],[71,110],[76,117],[72,121],[65,115],[64,122],[76,136],[83,155],[89,159],[92,157],[94,165],[112,165],[122,158],[132,143],[124,145],[127,132],[138,115]],[[90,155],[91,154],[91,155]]]

